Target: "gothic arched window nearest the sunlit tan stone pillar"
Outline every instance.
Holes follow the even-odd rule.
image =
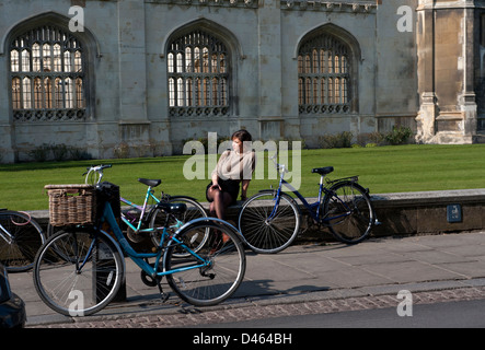
[[[298,51],[300,114],[348,113],[351,108],[350,49],[327,33],[304,39]]]

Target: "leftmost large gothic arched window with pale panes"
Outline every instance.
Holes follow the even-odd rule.
[[[84,120],[85,55],[81,43],[55,25],[42,25],[10,44],[15,122]]]

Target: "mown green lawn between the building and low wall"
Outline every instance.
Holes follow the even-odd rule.
[[[335,167],[331,177],[359,175],[360,183],[372,194],[485,188],[485,144],[472,145],[394,145],[358,149],[302,150],[301,187],[304,196],[316,196],[319,176],[312,167]],[[268,179],[265,155],[258,154],[259,166],[264,165],[265,178],[253,179],[249,195],[258,189],[277,185]],[[292,154],[288,156],[292,160]],[[103,160],[82,162],[46,162],[0,164],[0,207],[15,210],[48,208],[44,185],[82,184],[86,166],[113,164],[105,170],[105,180],[120,187],[122,196],[142,202],[145,185],[138,177],[161,178],[159,186],[170,195],[188,195],[205,201],[204,179],[184,177],[184,164],[192,156],[166,156],[151,159]],[[269,165],[268,165],[269,163]],[[291,170],[291,164],[290,164]],[[206,172],[207,174],[207,172]]]

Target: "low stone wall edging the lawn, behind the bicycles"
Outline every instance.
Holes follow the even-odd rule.
[[[315,198],[308,198],[309,202]],[[447,232],[475,231],[485,229],[485,188],[444,191],[419,191],[396,194],[371,194],[377,217],[381,222],[373,228],[371,236],[400,236],[440,234]],[[228,209],[228,221],[234,224],[242,201]],[[207,210],[209,205],[201,203]],[[461,206],[461,222],[448,222],[447,207]],[[303,208],[302,208],[302,212]],[[42,225],[47,225],[48,210],[32,211]],[[307,220],[302,220],[305,229]],[[311,226],[298,241],[333,241],[332,236]],[[326,230],[325,230],[326,231]]]

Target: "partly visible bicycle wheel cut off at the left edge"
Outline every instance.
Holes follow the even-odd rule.
[[[0,211],[0,262],[8,271],[31,269],[44,242],[41,225],[28,214],[11,210]]]

